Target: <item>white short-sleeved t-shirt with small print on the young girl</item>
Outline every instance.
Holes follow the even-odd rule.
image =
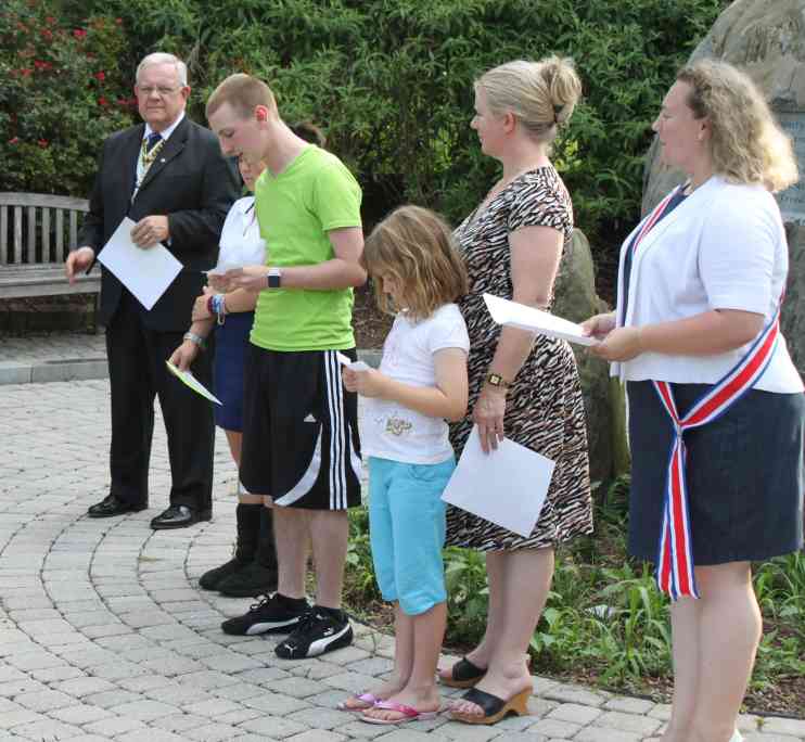
[[[435,386],[433,355],[444,348],[470,351],[467,324],[455,304],[445,304],[427,319],[411,322],[405,312],[394,320],[383,344],[380,371],[412,386]],[[395,401],[369,397],[365,400],[361,449],[404,463],[440,463],[452,457],[447,423]]]

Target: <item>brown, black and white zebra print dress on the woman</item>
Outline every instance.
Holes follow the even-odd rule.
[[[456,229],[470,273],[470,293],[458,302],[470,333],[470,412],[491,363],[500,325],[483,300],[488,292],[512,297],[509,233],[521,227],[547,226],[573,232],[573,206],[552,167],[515,178],[477,215]],[[560,265],[563,270],[564,259]],[[551,300],[552,300],[551,296]],[[529,537],[501,528],[450,506],[447,543],[480,551],[537,549],[592,532],[587,428],[582,386],[573,351],[564,341],[538,335],[507,398],[506,435],[555,461],[542,512]],[[460,456],[472,430],[471,414],[450,426],[450,440]],[[524,496],[527,489],[524,488]]]

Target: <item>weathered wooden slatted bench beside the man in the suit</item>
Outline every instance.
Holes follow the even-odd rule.
[[[101,291],[101,271],[71,285],[64,260],[78,239],[85,199],[44,193],[0,193],[0,299]]]

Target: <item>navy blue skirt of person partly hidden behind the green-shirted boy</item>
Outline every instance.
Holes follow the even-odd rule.
[[[227,315],[215,331],[215,424],[225,431],[243,431],[243,358],[254,324],[253,311]]]

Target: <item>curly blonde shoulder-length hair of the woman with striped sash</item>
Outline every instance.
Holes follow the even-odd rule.
[[[688,106],[708,118],[713,169],[738,183],[764,183],[781,191],[798,179],[791,139],[779,127],[749,75],[727,62],[701,60],[682,67],[677,80],[690,86]]]

